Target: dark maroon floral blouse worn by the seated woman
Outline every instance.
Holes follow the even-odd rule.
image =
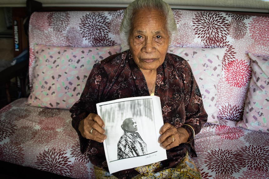
[[[130,50],[111,55],[94,65],[80,99],[70,109],[72,126],[80,138],[81,152],[89,154],[93,165],[108,171],[104,145],[83,138],[78,130],[79,122],[89,113],[97,113],[96,103],[148,95],[146,80]],[[197,134],[207,121],[200,90],[189,64],[183,58],[166,54],[164,63],[157,68],[155,95],[160,97],[164,122],[176,128],[183,124],[191,125]],[[191,138],[192,132],[188,128],[186,130]],[[197,156],[194,140],[167,150],[167,160],[161,162],[164,168],[177,165],[187,150],[191,157]],[[129,178],[136,175],[136,171],[129,169],[114,175],[118,178],[129,175]]]

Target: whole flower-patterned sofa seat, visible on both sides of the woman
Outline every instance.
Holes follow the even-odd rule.
[[[1,161],[71,178],[95,178],[68,110],[29,106],[27,98],[20,98],[0,110],[0,134]],[[220,119],[218,125],[206,123],[194,140],[198,157],[193,160],[204,179],[268,178],[269,133]]]

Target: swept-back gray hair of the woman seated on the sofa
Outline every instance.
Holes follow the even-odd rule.
[[[141,9],[155,9],[163,14],[166,19],[166,30],[169,33],[169,44],[177,34],[177,24],[175,23],[173,12],[169,4],[163,0],[135,0],[129,4],[124,12],[120,25],[120,40],[124,50],[129,49],[129,35],[133,27],[135,13]]]

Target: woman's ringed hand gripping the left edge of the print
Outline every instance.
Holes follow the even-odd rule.
[[[97,114],[90,113],[85,119],[80,121],[78,130],[82,137],[97,142],[104,142],[106,139],[104,127],[105,123],[101,117]]]

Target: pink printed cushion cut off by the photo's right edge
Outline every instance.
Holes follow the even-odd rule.
[[[252,78],[243,113],[237,127],[269,133],[269,58],[248,54]]]

